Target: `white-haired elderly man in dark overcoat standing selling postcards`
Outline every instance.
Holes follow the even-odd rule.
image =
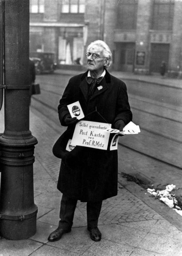
[[[92,113],[99,113],[104,123],[120,131],[132,120],[125,83],[107,71],[112,63],[108,45],[100,40],[92,42],[87,47],[86,59],[87,72],[69,80],[58,106],[60,123],[68,128],[53,148],[53,153],[62,158],[58,189],[63,195],[59,226],[48,237],[52,242],[71,231],[77,200],[87,202],[87,229],[92,240],[100,241],[98,218],[102,201],[116,196],[118,191],[117,150],[76,146],[66,152],[67,141],[78,121],[71,117],[67,105],[79,101],[84,116],[90,114],[91,121],[98,121]]]

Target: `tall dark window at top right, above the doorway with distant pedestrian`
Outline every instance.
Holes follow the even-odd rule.
[[[151,29],[172,30],[174,16],[174,0],[154,0]]]

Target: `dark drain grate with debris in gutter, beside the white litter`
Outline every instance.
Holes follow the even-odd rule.
[[[140,185],[141,187],[151,187],[153,185],[153,181],[146,177],[143,173],[121,173],[122,177],[126,178],[127,181],[133,181]]]

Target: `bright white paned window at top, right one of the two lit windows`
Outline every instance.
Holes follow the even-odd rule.
[[[85,0],[63,0],[62,13],[84,13]]]

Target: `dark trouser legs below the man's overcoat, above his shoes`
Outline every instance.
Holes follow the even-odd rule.
[[[73,225],[77,200],[69,198],[63,194],[60,206],[59,228],[70,229]],[[97,227],[102,201],[87,202],[87,227]]]

